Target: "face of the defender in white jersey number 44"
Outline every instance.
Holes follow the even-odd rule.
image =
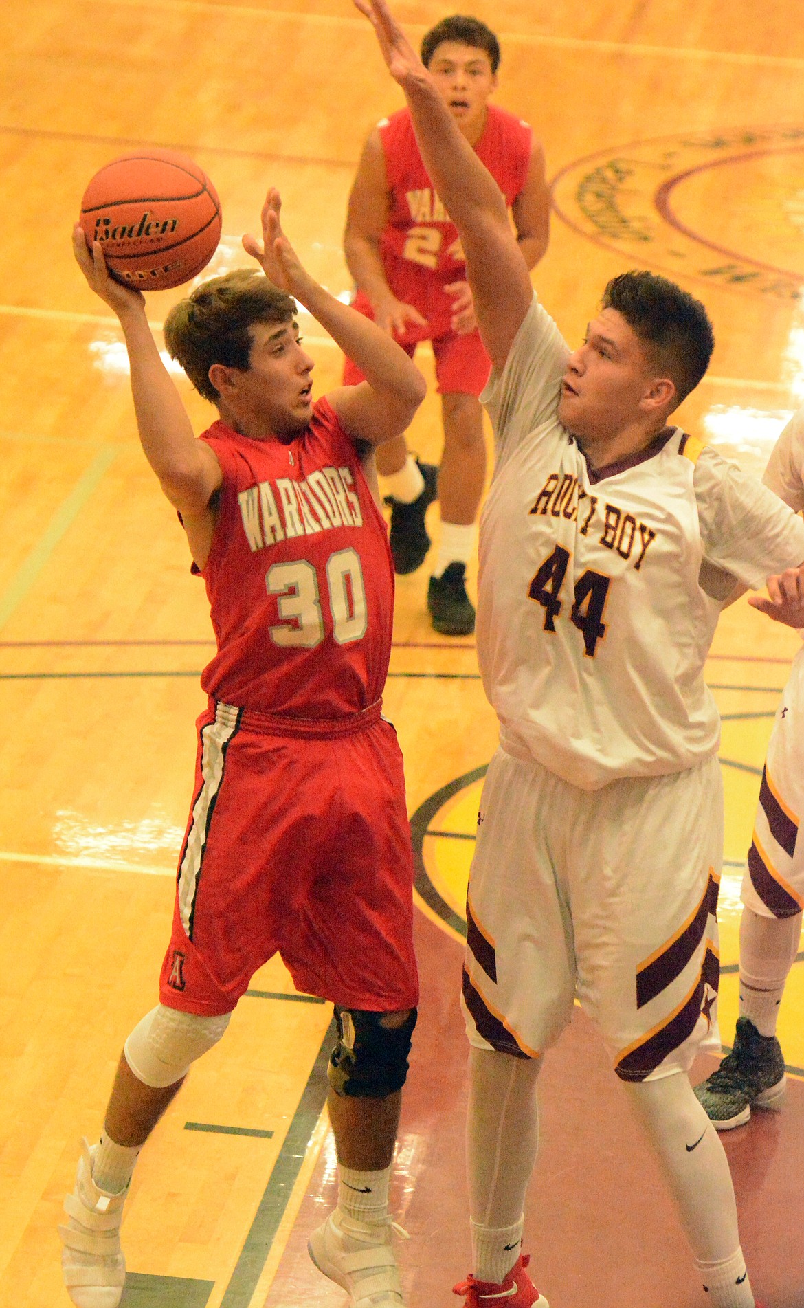
[[[584,445],[634,426],[635,449],[643,441],[646,395],[655,369],[639,337],[616,309],[604,309],[587,327],[586,340],[570,356],[558,400],[558,421]]]

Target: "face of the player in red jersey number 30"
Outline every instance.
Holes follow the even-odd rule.
[[[312,416],[312,360],[298,323],[255,323],[248,369],[238,377],[241,399],[261,428],[293,436]]]

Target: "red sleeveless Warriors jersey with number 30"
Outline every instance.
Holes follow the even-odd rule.
[[[319,400],[288,445],[239,436],[220,420],[201,439],[224,472],[203,570],[218,650],[201,685],[225,704],[297,718],[339,718],[377,702],[391,653],[394,565],[331,404]]]

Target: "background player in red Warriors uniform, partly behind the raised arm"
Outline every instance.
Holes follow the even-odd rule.
[[[503,192],[519,249],[532,268],[548,246],[544,153],[527,123],[489,105],[499,65],[497,37],[476,18],[454,16],[425,34],[421,58],[463,136]],[[424,562],[430,545],[425,511],[438,494],[442,535],[427,608],[437,632],[468,634],[475,610],[464,577],[486,468],[477,396],[490,364],[477,332],[458,232],[421,161],[408,109],[383,119],[366,141],[349,198],[344,251],[357,284],[354,307],[392,332],[409,354],[418,341],[433,341],[444,432],[441,470],[437,473],[409,455],[404,437],[384,445],[377,463],[388,479],[397,573]],[[360,377],[348,360],[344,381]]]

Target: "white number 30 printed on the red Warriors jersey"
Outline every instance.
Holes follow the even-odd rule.
[[[350,645],[366,634],[366,587],[360,556],[354,549],[337,549],[327,560],[327,590],[332,613],[332,634],[339,645]],[[277,596],[281,623],[269,628],[275,645],[315,649],[324,640],[318,574],[306,559],[275,564],[265,576],[265,589]]]

